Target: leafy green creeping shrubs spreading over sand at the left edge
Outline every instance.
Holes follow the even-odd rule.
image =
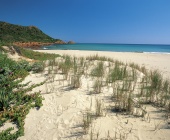
[[[30,86],[29,83],[21,84],[30,67],[26,61],[15,62],[0,53],[0,126],[7,121],[17,125],[14,133],[11,132],[13,128],[1,131],[1,140],[16,140],[24,135],[24,119],[29,110],[42,106],[40,92],[34,94],[27,92],[43,83]]]

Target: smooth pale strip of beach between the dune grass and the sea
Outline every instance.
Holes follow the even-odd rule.
[[[136,63],[149,70],[158,69],[165,79],[170,79],[170,54],[168,53],[138,53],[138,52],[108,52],[108,51],[82,51],[82,50],[35,50],[44,53],[72,55],[86,57],[92,55],[105,56],[124,63]]]

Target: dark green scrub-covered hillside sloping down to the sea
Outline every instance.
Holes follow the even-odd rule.
[[[35,26],[21,26],[10,24],[7,22],[0,22],[0,42],[14,43],[14,42],[42,42],[54,43],[60,41],[54,39]]]

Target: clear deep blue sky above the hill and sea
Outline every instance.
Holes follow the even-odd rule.
[[[170,0],[0,0],[0,20],[66,41],[170,44]]]

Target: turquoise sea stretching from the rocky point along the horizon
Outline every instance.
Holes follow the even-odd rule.
[[[113,52],[170,53],[170,45],[78,43],[45,46],[47,50],[90,50]]]

